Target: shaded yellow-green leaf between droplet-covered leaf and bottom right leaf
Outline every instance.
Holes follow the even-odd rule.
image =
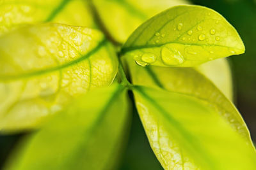
[[[157,87],[193,97],[219,113],[223,120],[248,140],[248,143],[252,143],[246,124],[234,104],[195,68],[140,67],[134,62],[127,63],[129,63],[129,71],[134,85]]]

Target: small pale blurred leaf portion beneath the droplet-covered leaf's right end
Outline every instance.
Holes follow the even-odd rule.
[[[233,101],[232,73],[227,59],[206,62],[196,67],[196,70],[209,78],[230,101]]]

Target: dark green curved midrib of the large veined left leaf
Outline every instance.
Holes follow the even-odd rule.
[[[51,73],[53,71],[58,71],[60,69],[65,69],[66,67],[70,67],[73,66],[79,62],[82,62],[83,60],[88,59],[88,57],[90,57],[91,55],[93,55],[95,52],[97,52],[102,46],[104,46],[107,43],[107,39],[103,38],[102,41],[100,41],[100,43],[93,48],[90,52],[86,53],[86,55],[83,55],[82,57],[79,57],[76,60],[72,60],[70,62],[67,62],[63,65],[60,66],[56,66],[56,67],[49,67],[47,69],[42,69],[42,70],[37,70],[37,71],[33,71],[33,72],[28,72],[28,73],[23,73],[23,74],[17,74],[17,75],[4,75],[4,76],[0,76],[0,81],[13,81],[13,80],[19,80],[21,78],[28,78],[31,76],[38,76],[41,74],[45,74],[45,73]]]

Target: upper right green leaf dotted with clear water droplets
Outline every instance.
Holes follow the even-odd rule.
[[[122,53],[140,66],[191,67],[244,53],[244,45],[236,29],[216,11],[175,6],[138,27]]]

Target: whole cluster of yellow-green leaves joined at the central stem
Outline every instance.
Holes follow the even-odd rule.
[[[0,130],[33,131],[5,169],[115,169],[130,100],[164,169],[255,169],[220,59],[244,53],[236,29],[209,8],[145,2],[0,1]]]

